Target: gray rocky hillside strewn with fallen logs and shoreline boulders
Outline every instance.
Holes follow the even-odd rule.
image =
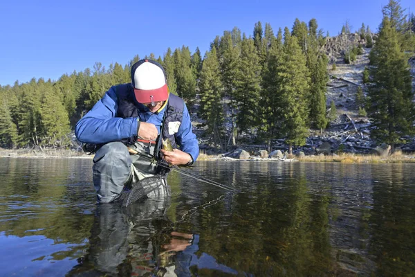
[[[356,44],[359,37],[356,35]],[[369,64],[369,53],[371,48],[365,48],[365,53],[358,55],[357,60],[353,64],[345,64],[341,55],[340,48],[336,48],[340,42],[335,38],[328,40],[328,55],[331,62],[328,64],[328,72],[330,75],[327,83],[326,107],[329,112],[331,101],[333,100],[336,107],[335,119],[331,121],[330,126],[323,132],[311,129],[310,136],[306,140],[306,145],[293,150],[293,154],[311,155],[311,154],[331,154],[339,152],[372,154],[377,153],[385,155],[389,153],[389,145],[378,145],[370,139],[371,124],[369,118],[358,115],[358,105],[356,104],[356,92],[358,87],[362,87],[363,92],[365,86],[362,83],[362,73],[365,66]],[[336,46],[337,45],[337,46]],[[332,64],[335,62],[336,68],[332,70]],[[415,57],[409,60],[412,66],[413,85],[415,89]],[[407,141],[405,145],[401,145],[403,152],[415,152],[415,138],[405,137]],[[241,148],[250,154],[264,157],[264,145],[242,145]],[[288,150],[288,145],[284,140],[277,139],[273,145],[273,154],[284,156],[284,152]],[[280,151],[276,151],[280,150]],[[247,152],[236,150],[230,152],[228,156],[239,157],[239,154]],[[261,154],[260,154],[261,152]]]

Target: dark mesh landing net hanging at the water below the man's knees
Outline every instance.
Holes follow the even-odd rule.
[[[120,206],[127,207],[141,199],[146,199],[149,193],[158,190],[164,186],[164,180],[160,177],[147,177],[131,188],[131,190],[122,190],[120,197],[116,200]]]

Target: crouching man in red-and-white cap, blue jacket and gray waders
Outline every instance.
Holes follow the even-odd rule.
[[[131,83],[111,87],[77,123],[75,135],[100,147],[93,159],[100,203],[113,202],[124,188],[154,176],[162,185],[147,196],[169,195],[166,163],[190,166],[199,156],[189,111],[181,98],[169,93],[163,67],[152,60],[133,64]],[[160,150],[161,139],[180,148]],[[159,152],[166,163],[160,163]]]

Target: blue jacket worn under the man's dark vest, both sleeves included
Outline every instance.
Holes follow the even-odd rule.
[[[138,118],[117,117],[118,94],[117,89],[131,86],[131,84],[120,84],[113,86],[102,97],[75,126],[75,136],[82,143],[108,143],[110,141],[120,141],[137,135],[137,121],[147,122],[156,125],[160,133],[160,126],[166,110],[164,107],[158,113],[152,113],[138,102],[135,102],[138,109]],[[176,140],[180,145],[180,150],[192,155],[194,161],[199,156],[199,145],[196,135],[192,132],[189,111],[186,105],[183,109],[183,120],[176,133]]]

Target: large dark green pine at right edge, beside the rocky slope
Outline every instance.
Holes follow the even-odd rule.
[[[376,126],[372,138],[394,145],[400,137],[412,134],[415,120],[414,91],[407,57],[401,48],[399,34],[384,17],[379,36],[369,55],[373,86],[369,87],[367,107],[369,118]]]

